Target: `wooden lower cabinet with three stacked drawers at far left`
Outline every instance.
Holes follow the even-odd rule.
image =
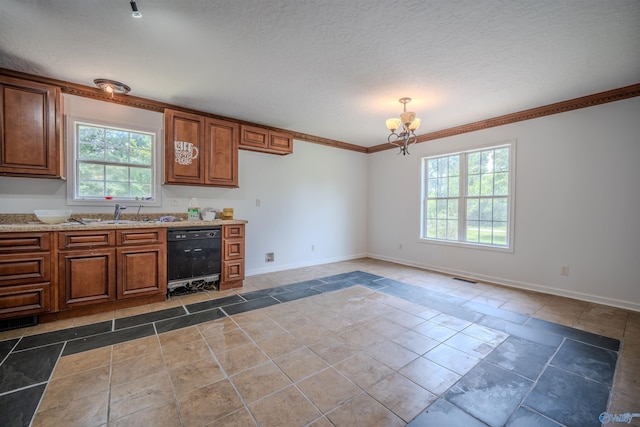
[[[0,233],[0,319],[51,310],[51,233]]]

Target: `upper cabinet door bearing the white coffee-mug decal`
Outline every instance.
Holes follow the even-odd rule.
[[[204,184],[205,119],[181,111],[164,111],[164,182]]]

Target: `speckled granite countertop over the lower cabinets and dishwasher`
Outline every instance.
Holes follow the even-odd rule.
[[[97,218],[101,215],[87,214],[85,216],[73,216],[74,218],[94,218],[95,222],[85,222],[80,224],[77,222],[65,222],[62,224],[45,224],[38,221],[32,214],[0,214],[0,232],[28,232],[28,231],[65,231],[65,230],[104,230],[105,228],[125,229],[125,228],[176,228],[176,227],[193,227],[193,226],[212,226],[212,225],[234,225],[246,224],[248,221],[243,219],[216,219],[213,221],[187,221],[179,218],[174,222],[160,222],[155,218],[149,221],[135,221],[133,219],[124,218],[122,221],[114,223],[107,218]]]

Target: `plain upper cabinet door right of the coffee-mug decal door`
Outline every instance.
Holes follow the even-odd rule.
[[[207,119],[205,142],[205,184],[221,187],[238,186],[237,123]]]

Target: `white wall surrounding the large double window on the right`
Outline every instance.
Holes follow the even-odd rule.
[[[640,311],[639,112],[633,98],[369,155],[370,255]],[[419,242],[421,157],[509,139],[514,253]]]

